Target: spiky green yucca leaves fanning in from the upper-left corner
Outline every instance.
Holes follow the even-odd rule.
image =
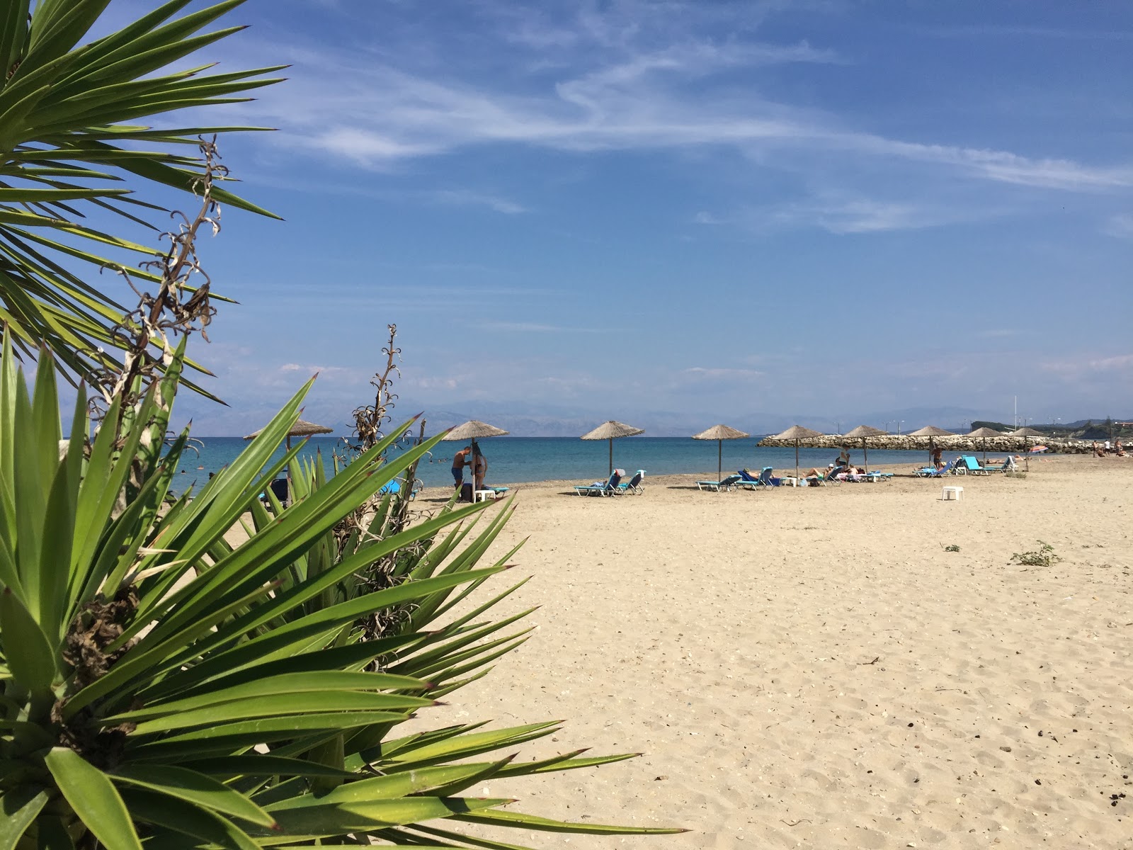
[[[165,70],[241,28],[201,33],[242,0],[177,17],[189,2],[161,3],[83,45],[110,0],[0,5],[0,322],[17,350],[46,343],[74,375],[116,368],[122,341],[113,330],[126,313],[105,289],[113,275],[97,278],[99,287],[82,271],[109,266],[140,286],[160,274],[144,266],[160,253],[100,222],[153,230],[147,216],[163,209],[163,187],[191,192],[202,177],[198,137],[253,129],[139,121],[247,100],[244,93],[278,82],[264,75],[282,66]],[[265,212],[220,186],[211,195]]]

